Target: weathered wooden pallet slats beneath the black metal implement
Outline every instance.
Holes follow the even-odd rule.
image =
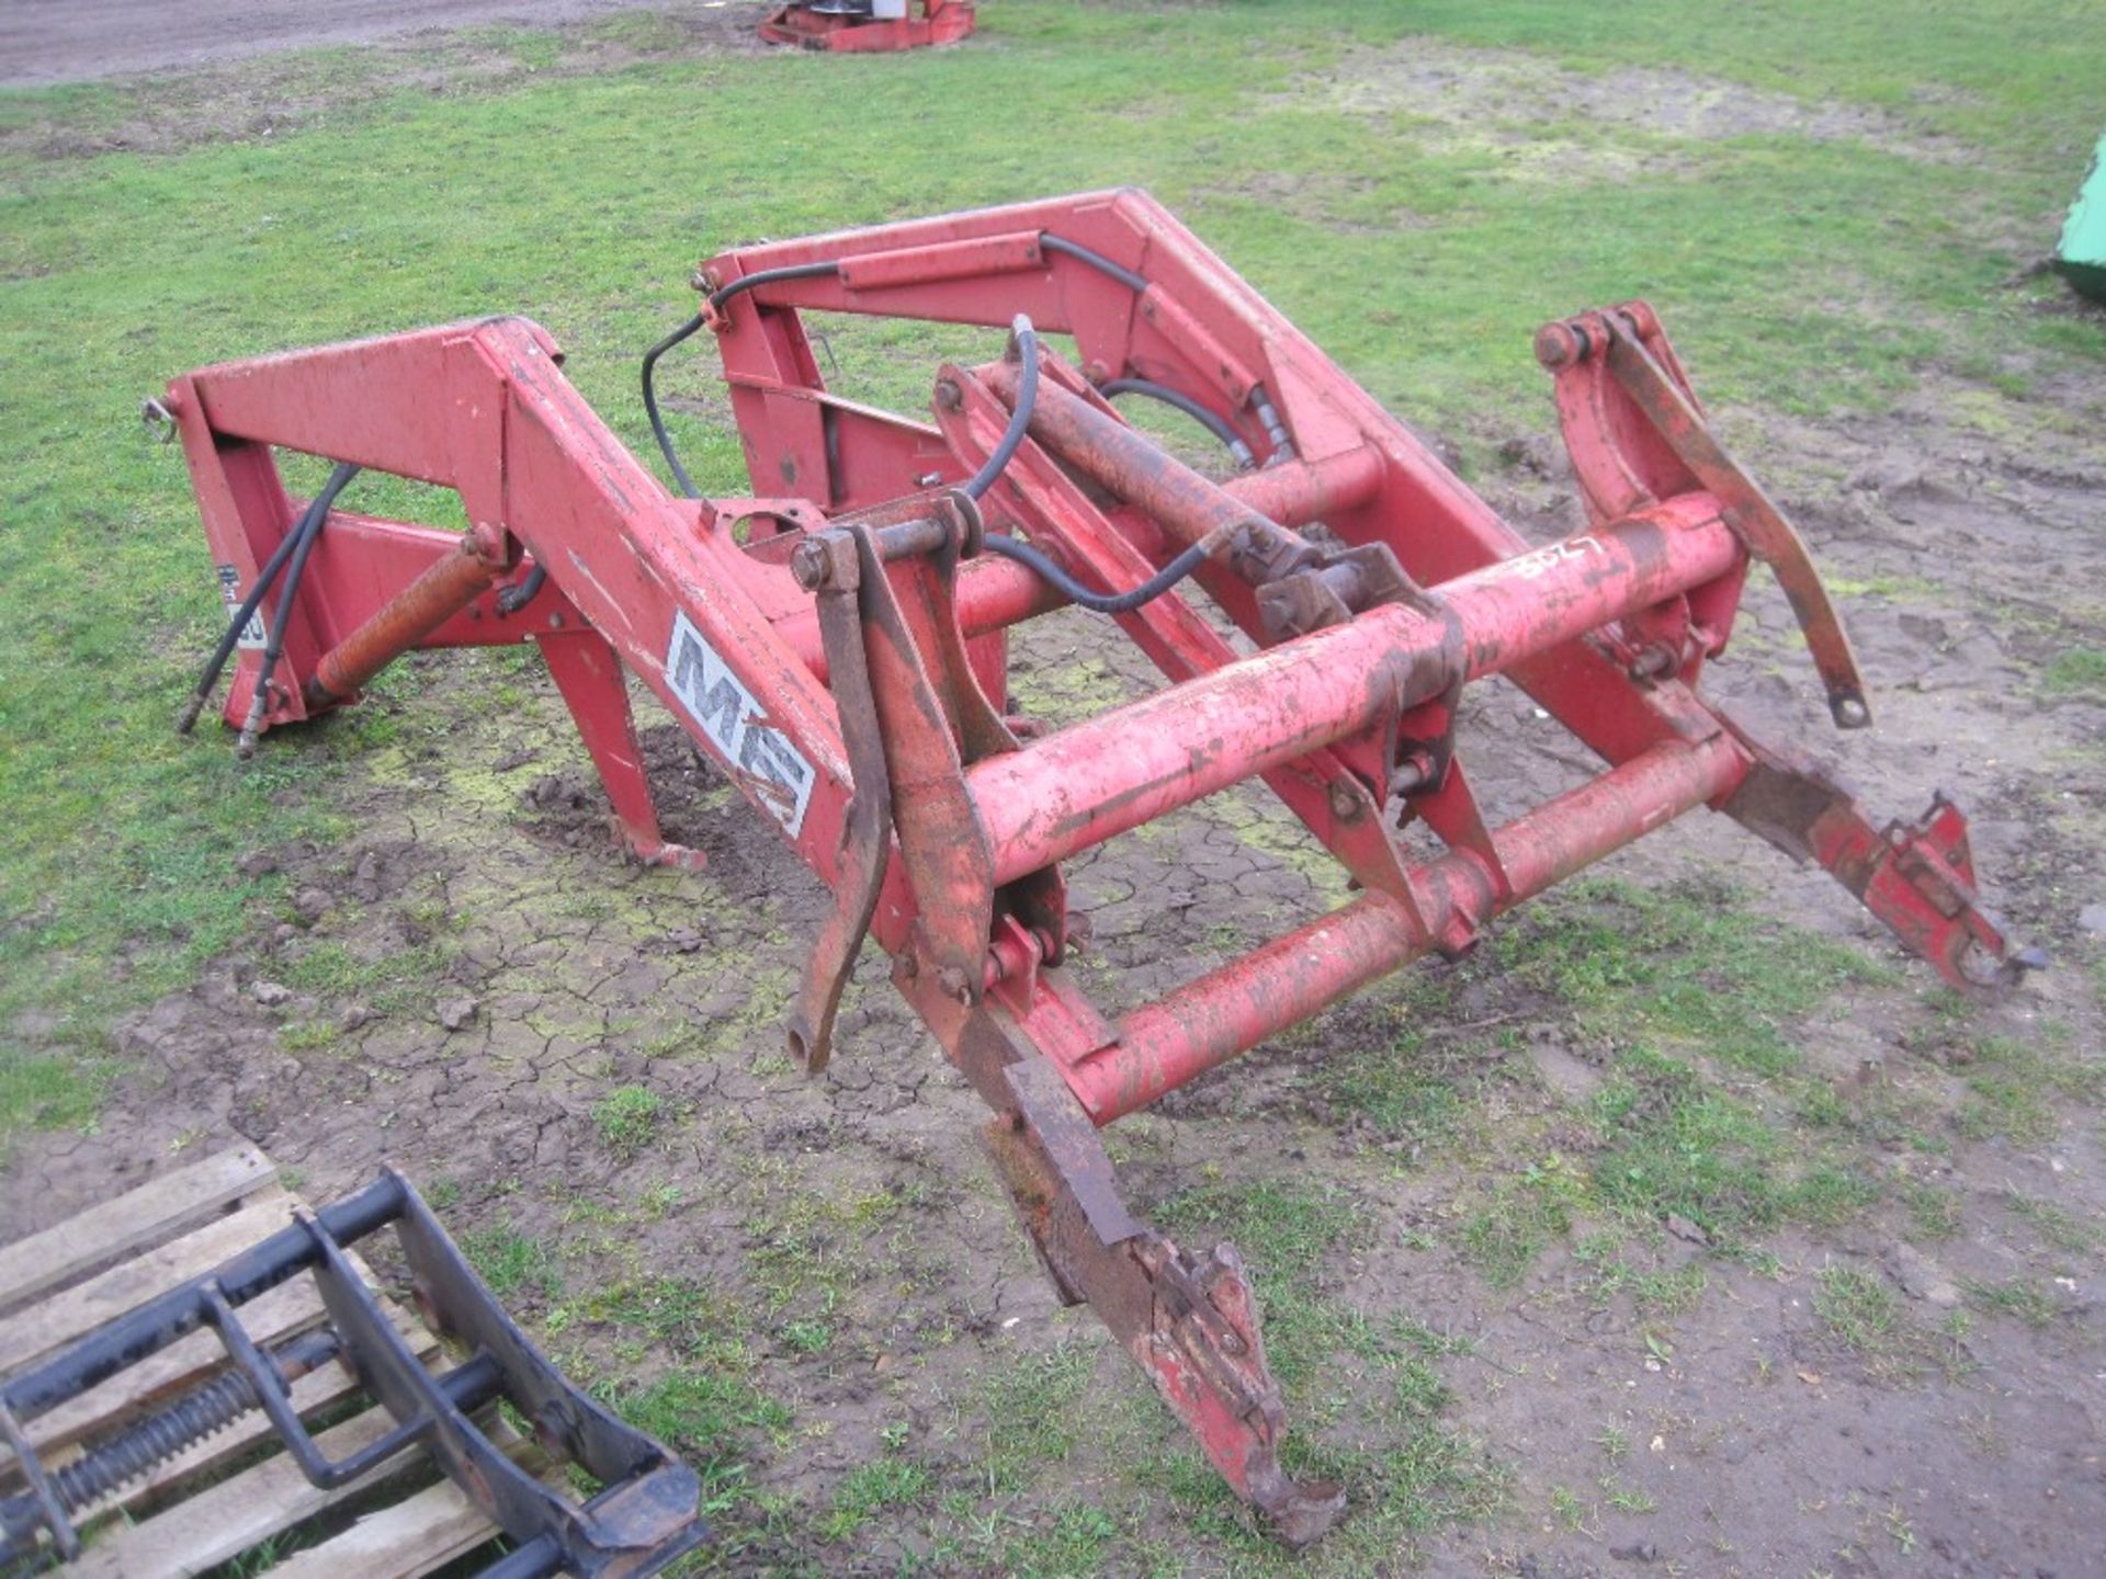
[[[297,1204],[297,1196],[278,1181],[276,1164],[257,1147],[242,1145],[0,1246],[0,1377],[211,1272],[284,1227]],[[356,1257],[354,1263],[364,1274],[364,1263]],[[428,1362],[438,1356],[438,1341],[409,1312],[390,1303],[388,1314]],[[322,1299],[314,1280],[299,1276],[242,1305],[240,1316],[259,1343],[278,1343],[316,1326]],[[29,1421],[29,1442],[48,1467],[59,1467],[76,1444],[107,1436],[223,1364],[219,1337],[192,1333]],[[343,1362],[333,1360],[293,1383],[293,1402],[303,1419],[312,1419],[320,1411],[341,1417],[364,1398]],[[316,1440],[326,1455],[343,1457],[388,1427],[388,1411],[366,1406],[337,1419]],[[501,1427],[491,1434],[529,1451]],[[0,1448],[0,1495],[19,1488],[13,1455]],[[345,1526],[350,1510],[356,1516]],[[76,1522],[86,1550],[63,1573],[97,1579],[187,1579],[257,1547],[265,1554],[291,1550],[293,1556],[270,1564],[272,1575],[289,1579],[411,1579],[497,1535],[474,1503],[417,1453],[341,1491],[316,1491],[278,1446],[261,1413],[242,1415],[217,1436],[120,1486]],[[318,1539],[316,1528],[326,1528],[326,1539]],[[261,1560],[261,1554],[251,1558],[253,1564]]]

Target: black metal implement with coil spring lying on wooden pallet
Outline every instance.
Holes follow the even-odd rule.
[[[394,1223],[411,1270],[419,1314],[470,1358],[434,1375],[402,1339],[345,1246]],[[261,1350],[238,1307],[267,1288],[312,1274],[329,1326]],[[232,1366],[158,1411],[46,1470],[27,1421],[211,1326]],[[329,1459],[291,1402],[291,1379],[343,1360],[390,1413],[394,1430],[343,1459]],[[545,1453],[592,1474],[604,1491],[571,1503],[520,1470],[470,1419],[503,1396],[535,1427]],[[23,1491],[0,1497],[0,1575],[32,1573],[80,1552],[72,1514],[145,1474],[192,1442],[261,1408],[307,1480],[343,1486],[409,1448],[432,1455],[516,1550],[484,1571],[497,1579],[573,1573],[579,1579],[651,1575],[708,1531],[697,1518],[695,1474],[659,1442],[632,1430],[573,1387],[533,1347],[474,1274],[411,1183],[385,1168],[356,1196],[299,1213],[297,1221],[215,1272],[95,1328],[78,1343],[0,1385],[0,1438],[15,1455]]]

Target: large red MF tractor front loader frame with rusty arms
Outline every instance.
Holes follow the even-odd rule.
[[[1531,549],[1141,194],[752,246],[703,280],[720,293],[813,263],[838,267],[708,314],[750,474],[769,491],[752,499],[672,497],[518,318],[177,379],[168,408],[236,585],[297,518],[274,446],[449,486],[468,509],[465,537],[331,518],[267,722],[343,699],[318,674],[356,684],[409,646],[533,640],[630,846],[687,859],[651,806],[634,672],[840,899],[796,1051],[823,1063],[868,928],[996,1110],[990,1147],[1064,1297],[1104,1316],[1287,1539],[1320,1533],[1342,1493],[1278,1465],[1280,1398],[1240,1261],[1230,1246],[1188,1257],[1129,1217],[1097,1126],[1419,954],[1468,950],[1495,914],[1695,806],[1832,870],[1961,987],[2007,990],[2030,962],[1978,905],[1950,804],[1874,825],[1697,695],[1761,558],[1836,722],[1870,722],[1805,549],[1704,427],[1643,303],[1537,337],[1590,524]],[[975,509],[952,484],[1009,423],[1017,364],[941,368],[937,421],[914,421],[828,392],[804,312],[988,326],[1024,312],[1072,337],[1074,356],[1047,358],[1030,440]],[[1198,400],[1270,463],[1226,484],[1190,474],[1101,398],[1122,377]],[[973,552],[994,528],[1104,589],[1205,541],[1221,552],[1198,579],[1257,651],[1171,592],[1116,617],[1171,684],[1019,741],[1002,632],[1061,598]],[[548,585],[505,613],[499,589],[529,564]],[[234,722],[255,669],[244,655]],[[1459,686],[1489,674],[1609,764],[1504,827],[1487,825],[1451,737]],[[1099,1017],[1061,968],[1059,861],[1253,777],[1363,893],[1160,1002]],[[1409,821],[1447,853],[1415,859],[1398,836]]]

